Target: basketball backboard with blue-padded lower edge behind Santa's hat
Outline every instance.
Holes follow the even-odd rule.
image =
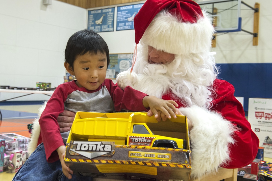
[[[197,4],[214,17],[217,33],[241,31],[241,0],[202,1]]]

